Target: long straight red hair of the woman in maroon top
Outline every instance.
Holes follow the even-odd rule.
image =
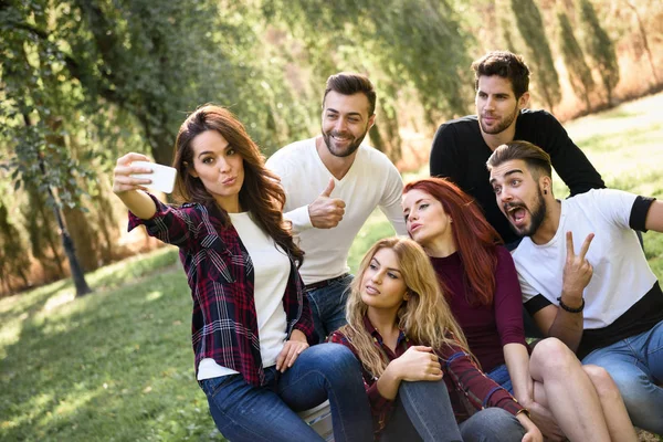
[[[425,178],[407,183],[403,194],[414,189],[440,201],[444,212],[453,220],[451,230],[465,270],[470,302],[491,305],[497,266],[495,245],[503,243],[499,233],[486,221],[474,199],[453,182],[443,178]],[[440,284],[445,294],[450,293],[443,281]]]

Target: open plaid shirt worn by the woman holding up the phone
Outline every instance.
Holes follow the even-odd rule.
[[[232,224],[223,227],[215,207],[190,203],[173,208],[150,197],[157,204],[157,212],[149,220],[129,212],[128,230],[145,224],[149,235],[180,250],[193,297],[191,341],[196,372],[203,358],[212,358],[217,364],[239,371],[246,382],[264,385],[253,299],[253,263],[236,230]],[[283,308],[287,336],[298,329],[313,344],[315,332],[311,308],[292,256]]]

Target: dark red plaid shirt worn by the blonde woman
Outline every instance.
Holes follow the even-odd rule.
[[[411,346],[419,345],[410,341],[401,330],[396,344],[396,352],[393,352],[383,344],[382,336],[370,323],[368,316],[364,316],[364,326],[372,336],[375,345],[383,351],[389,361],[402,356]],[[329,341],[348,347],[357,356],[355,347],[341,332],[334,332],[329,336]],[[438,349],[435,354],[440,357],[442,372],[444,373],[443,379],[457,422],[470,418],[476,410],[483,410],[487,407],[499,407],[514,415],[520,410],[525,410],[508,391],[485,376],[461,347],[445,346]],[[393,401],[380,396],[377,383],[378,378],[373,377],[364,365],[361,365],[361,372],[373,415],[376,439],[379,439],[380,432],[387,425],[393,411]]]

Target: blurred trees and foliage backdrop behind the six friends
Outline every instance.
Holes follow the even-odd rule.
[[[1,1],[0,293],[69,275],[53,209],[61,209],[84,271],[126,256],[128,249],[114,241],[120,238],[109,191],[115,159],[139,151],[169,164],[180,123],[208,102],[230,107],[269,156],[319,131],[328,75],[361,72],[378,92],[371,144],[394,162],[412,162],[413,139],[472,112],[471,61],[508,48],[528,54],[538,106],[577,115],[577,92],[564,90],[562,75],[576,64],[561,56],[559,32],[549,23],[562,11],[579,29],[580,18],[589,20],[579,14],[579,4],[589,10],[586,3]],[[611,74],[604,82],[615,98],[661,87],[663,3],[591,6],[601,32],[581,35],[582,42],[596,38],[575,46],[575,60],[597,60],[590,74],[600,78],[614,70],[608,52],[620,51],[621,81],[615,85]],[[588,48],[592,54],[578,52]],[[643,82],[645,59],[652,75]],[[604,95],[594,91],[582,99],[599,108]]]

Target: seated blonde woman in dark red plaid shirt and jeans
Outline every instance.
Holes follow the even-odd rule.
[[[476,367],[414,241],[385,239],[368,251],[346,314],[329,340],[361,362],[376,439],[541,441],[527,410]]]

